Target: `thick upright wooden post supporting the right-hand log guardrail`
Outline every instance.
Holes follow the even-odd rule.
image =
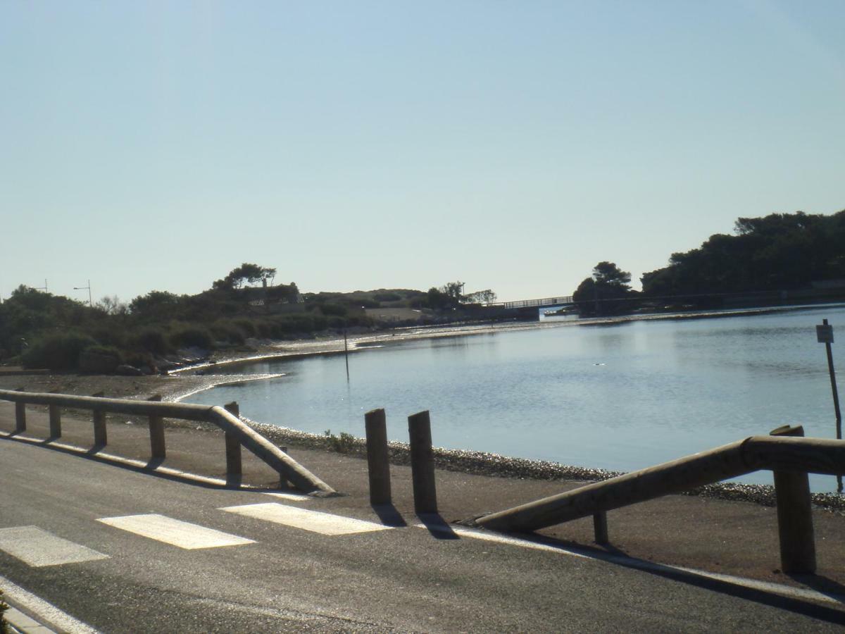
[[[773,436],[803,436],[802,426],[784,425]],[[774,471],[777,499],[777,533],[784,572],[815,572],[815,536],[807,473]]]

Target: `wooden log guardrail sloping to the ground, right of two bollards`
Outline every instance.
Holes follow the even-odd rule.
[[[475,522],[497,531],[531,532],[593,516],[596,541],[607,543],[607,511],[771,469],[782,569],[814,572],[815,541],[807,474],[845,473],[845,440],[793,437],[804,435],[800,427],[778,428],[772,434],[751,436],[711,451],[587,484],[479,517]]]

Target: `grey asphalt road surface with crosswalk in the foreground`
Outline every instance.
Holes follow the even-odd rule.
[[[415,516],[382,511],[406,526],[316,533],[221,508],[278,504],[382,520],[342,498],[294,501],[184,484],[13,440],[0,440],[0,483],[0,544],[3,534],[16,534],[5,529],[38,527],[107,555],[30,566],[0,548],[0,575],[101,631],[792,632],[845,625],[842,604],[473,538],[430,519],[430,529],[417,527]],[[145,514],[253,541],[183,549],[98,521]]]

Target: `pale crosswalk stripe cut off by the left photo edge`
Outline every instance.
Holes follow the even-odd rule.
[[[0,550],[34,568],[108,559],[108,555],[69,542],[37,526],[0,528]]]

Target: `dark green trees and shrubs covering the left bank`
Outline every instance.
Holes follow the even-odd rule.
[[[376,324],[368,308],[416,307],[421,315],[433,309],[424,313],[429,321],[445,319],[426,292],[382,288],[302,295],[293,282],[274,285],[275,273],[244,263],[197,295],[150,291],[128,303],[106,297],[94,306],[22,285],[0,303],[0,360],[58,371],[155,372],[178,363],[180,351],[193,350],[194,357],[220,348],[248,351],[250,338],[370,328]]]

